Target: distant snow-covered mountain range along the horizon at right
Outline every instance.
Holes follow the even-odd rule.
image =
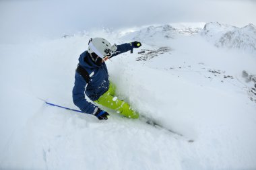
[[[177,38],[177,36],[193,36],[199,33],[217,47],[237,48],[249,52],[256,51],[256,27],[253,24],[243,28],[218,22],[207,24],[166,24],[163,26],[147,26],[121,35],[126,39],[143,40],[154,44],[156,38],[173,39]]]

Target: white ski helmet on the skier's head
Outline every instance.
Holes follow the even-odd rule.
[[[103,58],[104,56],[111,56],[116,50],[117,45],[114,44],[111,46],[110,42],[104,38],[91,38],[89,40],[88,52],[90,54],[94,52],[100,56],[100,58]]]

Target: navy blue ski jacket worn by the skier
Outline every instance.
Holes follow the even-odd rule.
[[[125,43],[117,46],[117,52],[112,56],[116,56],[123,52],[133,49],[131,43]],[[79,65],[81,65],[90,75],[90,81],[86,80],[82,75],[75,72],[75,85],[73,87],[73,103],[86,114],[94,114],[98,109],[94,103],[86,99],[85,94],[92,101],[97,100],[109,88],[108,69],[105,62],[101,66],[95,65],[90,58],[90,54],[86,50],[79,56]]]

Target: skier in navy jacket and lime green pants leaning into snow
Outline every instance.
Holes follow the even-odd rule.
[[[121,45],[114,44],[104,38],[91,38],[88,50],[79,57],[79,64],[75,71],[75,85],[73,87],[73,103],[86,114],[92,114],[99,120],[107,120],[109,114],[98,108],[95,103],[116,110],[127,118],[139,118],[139,114],[131,109],[125,101],[115,97],[115,85],[108,80],[108,70],[105,61],[123,52],[139,48],[140,42]],[[85,98],[85,94],[94,103]]]

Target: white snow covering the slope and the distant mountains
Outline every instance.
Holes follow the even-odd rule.
[[[0,169],[256,169],[255,84],[242,76],[256,73],[254,29],[166,24],[0,44]],[[94,36],[141,41],[106,62],[117,97],[183,136],[111,110],[100,121],[38,99],[77,109],[77,59]],[[243,43],[227,45],[237,38]]]

